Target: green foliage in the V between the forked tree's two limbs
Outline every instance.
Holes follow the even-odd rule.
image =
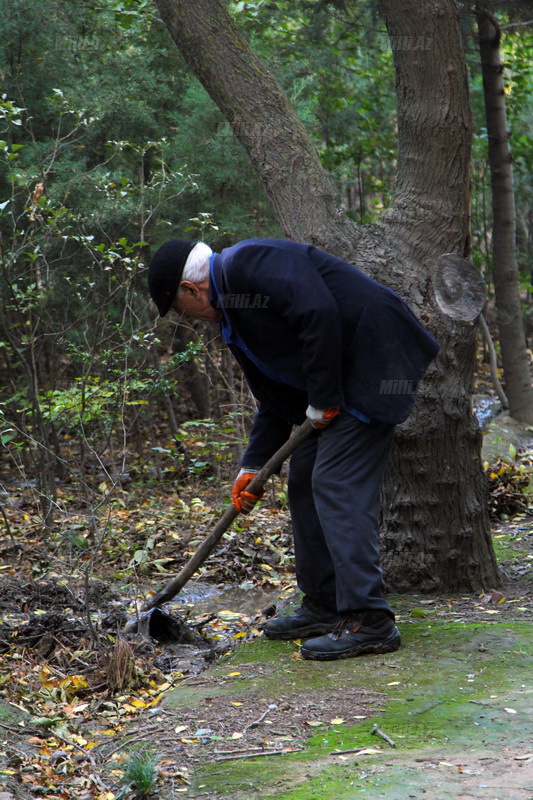
[[[392,52],[373,3],[231,4],[294,103],[346,211],[376,222],[396,168]]]

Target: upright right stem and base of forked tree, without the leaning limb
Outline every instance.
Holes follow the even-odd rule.
[[[392,454],[384,493],[384,567],[398,589],[479,588],[496,584],[498,576],[489,539],[481,433],[470,401],[475,328],[424,311],[431,308],[428,275],[439,256],[468,255],[466,64],[452,0],[381,0],[381,8],[389,37],[398,45],[397,186],[383,219],[403,269],[394,288],[418,308],[441,345]],[[408,46],[413,30],[424,46]]]

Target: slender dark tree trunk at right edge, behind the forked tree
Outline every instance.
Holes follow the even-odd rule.
[[[477,6],[476,17],[492,185],[492,274],[505,393],[511,416],[520,422],[532,423],[533,386],[520,302],[513,163],[505,111],[501,31],[489,11]]]

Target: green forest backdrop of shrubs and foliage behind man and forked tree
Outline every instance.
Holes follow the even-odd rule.
[[[530,339],[532,33],[519,4],[490,5],[504,33]],[[228,7],[296,108],[339,206],[358,223],[376,222],[390,204],[397,158],[393,55],[376,5]],[[474,116],[471,259],[491,297],[479,50],[472,9],[460,10]],[[164,572],[173,560],[152,551],[161,545],[165,500],[171,516],[163,536],[180,502],[189,509],[180,498],[191,489],[203,492],[200,504],[221,499],[255,405],[212,329],[157,321],[146,265],[172,236],[220,249],[282,231],[244,149],[153,4],[5,1],[0,31],[6,535],[29,524],[37,540],[58,552],[74,547],[91,569],[102,558],[118,563],[122,553],[134,571]],[[414,36],[409,46],[425,43]],[[489,322],[490,314],[489,304]],[[494,324],[492,331],[498,345]],[[483,381],[481,338],[478,359]],[[283,503],[282,484],[278,495]],[[48,567],[30,569],[39,575]]]

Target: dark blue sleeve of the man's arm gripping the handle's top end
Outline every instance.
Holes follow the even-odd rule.
[[[306,250],[242,247],[227,275],[239,291],[268,296],[297,336],[309,403],[331,408],[343,402],[342,326],[338,306]]]

